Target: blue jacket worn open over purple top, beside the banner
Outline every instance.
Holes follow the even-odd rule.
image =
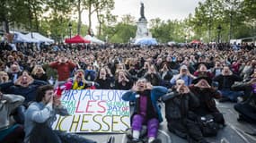
[[[152,104],[154,106],[154,110],[156,111],[156,113],[158,114],[158,121],[159,122],[163,122],[163,115],[161,113],[160,107],[157,105],[157,100],[159,99],[159,97],[162,97],[163,95],[165,95],[167,93],[168,89],[161,87],[161,86],[155,86],[151,89],[151,101]],[[131,90],[128,90],[123,96],[122,99],[125,101],[136,101],[137,98],[137,93],[133,92]],[[137,109],[137,107],[135,107],[135,109]]]

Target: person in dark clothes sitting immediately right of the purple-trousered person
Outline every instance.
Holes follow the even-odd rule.
[[[177,80],[174,90],[164,95],[162,100],[165,104],[165,117],[169,131],[188,139],[190,143],[207,143],[198,123],[190,119],[191,109],[199,106],[199,98],[190,92],[184,80]]]

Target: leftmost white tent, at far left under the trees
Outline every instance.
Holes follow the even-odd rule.
[[[30,38],[27,35],[22,34],[21,32],[11,32],[13,33],[13,42],[27,42],[27,43],[39,43],[40,41],[35,38]]]

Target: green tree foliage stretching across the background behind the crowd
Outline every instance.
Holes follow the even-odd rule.
[[[111,13],[114,4],[114,0],[1,0],[0,21],[4,21],[7,31],[9,25],[14,25],[62,41],[69,38],[69,22],[72,23],[72,36],[77,33],[84,36],[92,27],[92,17],[96,16],[98,38],[126,43],[136,36],[137,20],[128,14],[117,22],[118,16]],[[79,17],[84,11],[89,13],[85,18],[88,26],[79,26]],[[194,15],[190,14],[187,19],[163,21],[155,18],[149,21],[149,28],[161,43],[183,43],[192,39],[217,41],[218,34],[221,41],[229,41],[230,38],[256,35],[255,12],[255,0],[205,0],[199,2]],[[74,14],[78,15],[77,20]],[[216,29],[218,25],[222,27],[220,33]]]

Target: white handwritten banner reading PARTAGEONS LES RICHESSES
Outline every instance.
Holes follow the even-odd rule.
[[[61,101],[70,116],[57,116],[52,128],[68,132],[121,133],[129,128],[129,103],[124,90],[66,90]]]

